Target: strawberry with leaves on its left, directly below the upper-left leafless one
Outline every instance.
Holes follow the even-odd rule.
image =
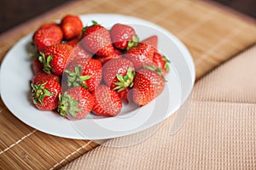
[[[39,56],[39,60],[44,65],[44,71],[61,76],[72,51],[72,46],[62,43],[45,48],[44,54]]]

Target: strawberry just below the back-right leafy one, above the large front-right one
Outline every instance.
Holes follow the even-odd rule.
[[[131,60],[136,70],[145,65],[154,65],[154,48],[146,43],[139,43],[126,52],[125,58]]]

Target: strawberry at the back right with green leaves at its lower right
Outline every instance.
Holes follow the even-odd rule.
[[[110,30],[113,45],[119,49],[129,49],[139,42],[135,30],[131,26],[115,24]]]

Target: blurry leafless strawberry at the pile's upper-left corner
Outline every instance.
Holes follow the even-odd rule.
[[[61,27],[49,23],[41,26],[41,28],[36,31],[32,37],[32,40],[38,51],[44,51],[45,48],[61,43],[63,38],[63,33]]]

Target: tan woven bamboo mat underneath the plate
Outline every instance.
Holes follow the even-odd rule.
[[[255,21],[210,3],[193,0],[73,1],[0,36],[0,62],[15,42],[65,14],[118,13],[150,20],[179,37],[193,55],[196,78],[256,42]],[[92,150],[88,140],[41,133],[13,116],[0,99],[0,168],[59,168]]]

